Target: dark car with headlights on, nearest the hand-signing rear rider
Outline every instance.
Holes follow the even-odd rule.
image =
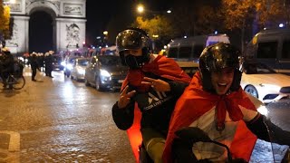
[[[87,86],[95,86],[98,91],[119,90],[127,72],[128,67],[121,64],[119,56],[93,56],[85,69],[84,82]]]

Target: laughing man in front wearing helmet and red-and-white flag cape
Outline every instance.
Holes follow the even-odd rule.
[[[176,131],[186,127],[202,129],[210,139],[226,144],[233,158],[247,162],[256,147],[257,138],[270,140],[268,127],[275,128],[276,134],[285,136],[277,143],[290,144],[289,132],[278,129],[269,121],[269,126],[266,126],[265,116],[256,110],[254,99],[240,87],[242,72],[239,71],[239,56],[239,51],[229,43],[208,46],[201,53],[199,71],[180,96],[172,113],[163,153],[164,162],[227,160],[227,150],[221,146],[207,142],[192,144],[175,135]]]

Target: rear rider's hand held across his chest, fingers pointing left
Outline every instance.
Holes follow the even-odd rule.
[[[160,79],[155,80],[152,78],[144,77],[142,84],[150,84],[150,86],[155,91],[170,91],[170,85],[168,82],[162,81]]]

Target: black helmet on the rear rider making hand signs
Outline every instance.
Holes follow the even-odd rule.
[[[131,69],[138,69],[150,61],[151,40],[149,35],[140,28],[128,28],[118,34],[116,47],[121,57],[121,63]],[[141,56],[124,56],[124,51],[138,49],[142,50]]]

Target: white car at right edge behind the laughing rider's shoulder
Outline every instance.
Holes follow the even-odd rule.
[[[241,86],[260,101],[269,103],[289,97],[290,76],[260,62],[244,62]]]

